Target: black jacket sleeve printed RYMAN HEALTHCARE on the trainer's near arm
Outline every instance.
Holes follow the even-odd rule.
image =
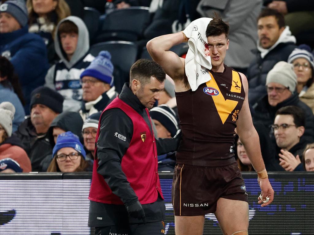
[[[124,204],[138,200],[121,168],[121,160],[132,135],[132,120],[121,109],[109,109],[103,114],[97,141],[97,172]]]

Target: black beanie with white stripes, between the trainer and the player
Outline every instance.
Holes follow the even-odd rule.
[[[150,110],[149,115],[151,118],[161,123],[171,134],[171,137],[176,135],[178,130],[178,122],[176,120],[176,114],[166,104],[162,104],[158,107],[154,107]]]

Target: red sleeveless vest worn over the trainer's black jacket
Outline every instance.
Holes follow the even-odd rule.
[[[141,204],[153,203],[157,200],[158,193],[162,196],[154,134],[151,134],[144,118],[118,97],[116,97],[102,112],[100,120],[103,113],[111,108],[121,109],[133,122],[133,136],[127,151],[122,157],[122,170],[127,176],[127,181],[130,183],[130,186],[138,196],[139,202]],[[148,109],[146,109],[146,112],[149,117]],[[98,125],[96,143],[99,137],[99,131],[100,124]],[[113,138],[115,137],[114,133],[112,133],[112,136]],[[104,177],[97,173],[97,168],[97,149],[95,149],[92,183],[88,197],[89,200],[107,204],[123,204],[120,198],[112,193],[110,187],[104,180]]]

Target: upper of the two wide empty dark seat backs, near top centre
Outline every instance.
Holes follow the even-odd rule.
[[[108,40],[137,41],[150,21],[148,7],[116,9],[104,18],[97,42]]]

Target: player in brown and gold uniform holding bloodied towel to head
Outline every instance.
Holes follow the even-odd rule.
[[[244,180],[232,150],[235,133],[257,171],[262,190],[258,203],[269,205],[273,189],[252,123],[246,77],[224,64],[229,26],[220,18],[208,20],[209,24],[200,18],[183,32],[147,43],[149,54],[175,82],[182,129],[172,184],[175,229],[177,235],[202,235],[205,214],[215,213],[224,234],[245,235],[249,208]],[[205,33],[201,28],[204,24]],[[170,51],[172,46],[187,41],[189,45],[195,42],[196,49],[190,47],[186,59]],[[187,60],[191,51],[195,55]],[[211,66],[190,63],[200,60],[210,60]],[[197,70],[188,68],[187,63]],[[203,83],[198,84],[200,79]]]

